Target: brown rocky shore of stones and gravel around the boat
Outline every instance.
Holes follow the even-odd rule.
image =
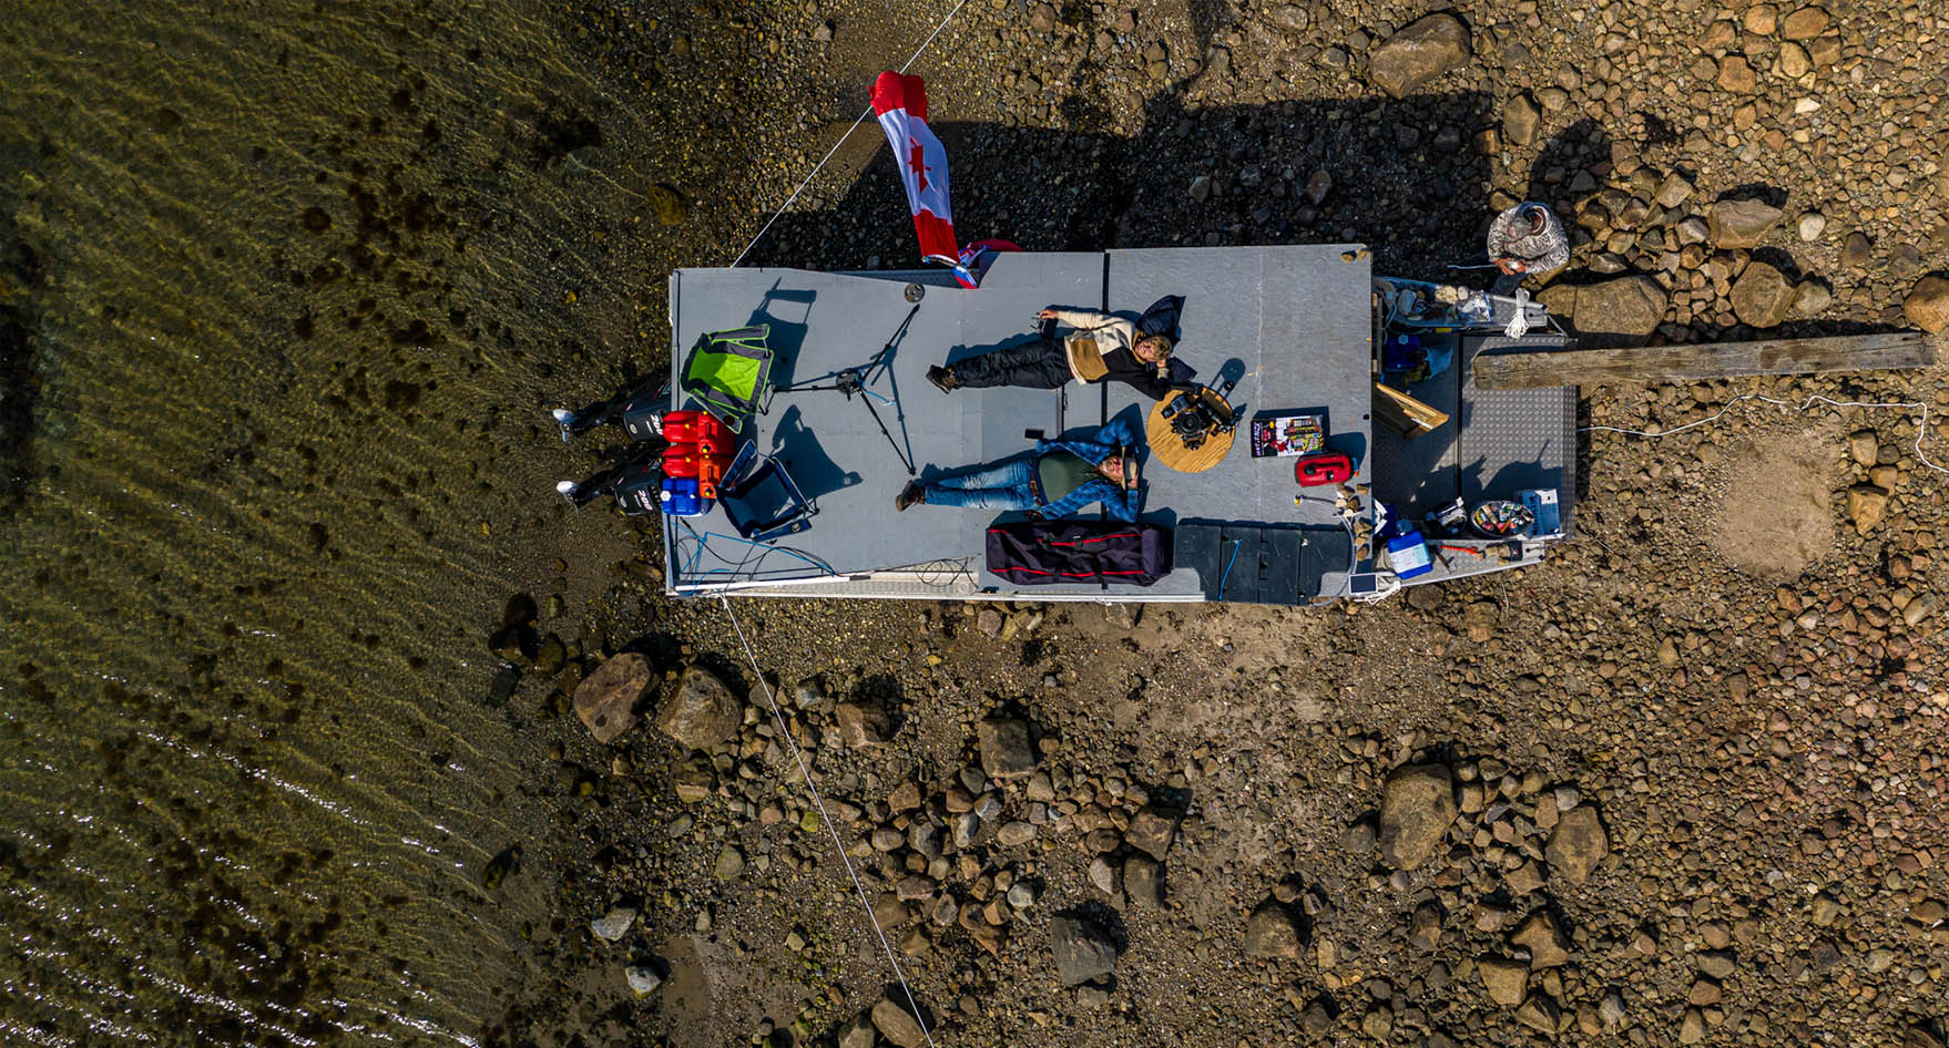
[[[678,263],[936,14],[743,37],[782,55],[760,189],[678,183]],[[1945,39],[1926,4],[994,0],[916,72],[965,236],[1433,277],[1540,199],[1553,310],[1700,341],[1941,331]],[[756,257],[906,265],[875,150]],[[1754,393],[1949,407],[1933,372],[1583,390],[1598,427],[1725,417],[1590,432],[1575,543],[1376,608],[739,604],[782,717],[723,610],[655,596],[653,532],[563,514],[616,567],[497,635],[565,812],[522,865],[569,882],[493,1040],[926,1044],[850,865],[937,1044],[1939,1048],[1949,432]]]

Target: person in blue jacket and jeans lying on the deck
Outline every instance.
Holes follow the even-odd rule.
[[[1113,419],[1078,440],[1039,440],[1033,452],[971,466],[912,483],[893,508],[912,505],[980,510],[1033,510],[1045,518],[1074,516],[1091,503],[1117,520],[1134,522],[1144,505],[1130,425]]]

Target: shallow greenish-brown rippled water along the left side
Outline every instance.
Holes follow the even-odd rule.
[[[672,27],[552,12],[0,19],[0,1042],[493,1040],[552,880],[485,637],[680,127]]]

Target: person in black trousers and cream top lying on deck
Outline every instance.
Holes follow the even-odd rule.
[[[1097,310],[1060,310],[1051,306],[1037,319],[1070,325],[1066,339],[1054,333],[1041,339],[990,349],[980,356],[955,360],[953,366],[928,368],[928,382],[951,393],[955,390],[986,390],[992,386],[1023,386],[1056,390],[1076,382],[1128,382],[1150,399],[1171,392],[1171,339],[1146,335],[1134,323]]]

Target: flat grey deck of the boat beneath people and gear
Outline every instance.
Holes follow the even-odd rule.
[[[918,310],[910,302],[916,284]],[[752,438],[785,464],[817,505],[811,528],[754,545],[737,538],[721,510],[667,518],[669,590],[1275,604],[1337,596],[1349,588],[1358,557],[1331,505],[1333,489],[1306,489],[1325,499],[1296,503],[1302,489],[1292,460],[1251,458],[1249,419],[1257,415],[1325,415],[1329,448],[1357,464],[1353,483],[1374,485],[1382,497],[1405,493],[1415,510],[1450,489],[1501,491],[1514,479],[1509,469],[1524,464],[1534,469],[1516,487],[1561,487],[1569,503],[1571,485],[1563,479],[1575,456],[1559,434],[1569,432],[1575,399],[1565,395],[1573,392],[1544,390],[1532,397],[1534,405],[1493,403],[1491,397],[1510,393],[1481,393],[1456,382],[1464,370],[1458,360],[1444,376],[1450,388],[1436,392],[1456,397],[1452,411],[1442,407],[1454,425],[1411,442],[1386,430],[1376,436],[1372,269],[1368,251],[1357,243],[1008,253],[994,261],[978,290],[955,286],[943,271],[684,269],[670,277],[670,349],[680,368],[698,335],[768,323],[778,356],[774,388],[830,382],[832,374],[873,360],[912,312],[883,356],[887,366],[869,372],[865,390],[893,440],[928,477],[1025,454],[1037,436],[1076,434],[1113,417],[1142,432],[1152,401],[1123,384],[941,393],[926,370],[1033,337],[1033,314],[1049,304],[1134,319],[1166,294],[1185,296],[1177,356],[1197,368],[1201,382],[1236,378],[1230,401],[1243,407],[1243,421],[1232,448],[1206,471],[1179,473],[1146,454],[1150,489],[1142,520],[1177,536],[1177,567],[1158,584],[1017,586],[986,573],[986,528],[1019,514],[926,505],[895,512],[893,497],[908,479],[906,468],[865,399],[830,390],[780,390],[754,419]],[[1470,347],[1477,349],[1495,347]],[[682,393],[672,392],[672,407],[682,407],[680,401]],[[1555,454],[1540,456],[1540,444]],[[1555,483],[1546,483],[1551,477]],[[1238,563],[1247,540],[1263,540],[1267,555],[1259,567],[1271,573],[1263,586],[1247,567],[1249,557]],[[1208,577],[1216,553],[1232,555],[1224,580]],[[1284,579],[1279,573],[1292,569],[1279,563],[1286,555],[1304,561],[1300,592],[1279,582]],[[1440,573],[1450,571],[1468,573],[1466,565]]]

